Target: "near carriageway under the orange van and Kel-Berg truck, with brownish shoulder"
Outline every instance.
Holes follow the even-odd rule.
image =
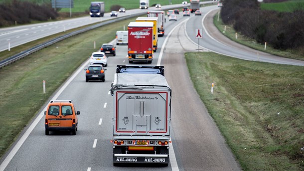
[[[205,14],[216,6],[203,7]],[[166,16],[167,17],[167,16]],[[184,28],[200,22],[203,16],[183,17],[165,23],[166,35],[158,40],[152,65],[165,66],[172,88],[172,132],[168,167],[149,165],[112,165],[113,99],[109,89],[116,65],[128,64],[127,46],[117,46],[117,55],[109,56],[105,82],[85,82],[88,61],[58,89],[52,99],[72,99],[80,111],[76,136],[68,132],[44,135],[45,107],[28,126],[14,148],[1,161],[0,171],[238,171],[239,165],[219,130],[200,101],[189,75],[183,53],[195,51]],[[201,23],[201,22],[200,22]],[[170,35],[168,35],[170,34]],[[141,64],[147,65],[147,64]],[[178,79],[177,78],[178,75]],[[4,159],[3,158],[3,159]]]

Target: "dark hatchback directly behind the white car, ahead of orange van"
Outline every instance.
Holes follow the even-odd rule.
[[[86,82],[90,80],[101,80],[102,82],[105,82],[105,71],[107,69],[104,69],[102,65],[93,64],[89,65],[88,68],[84,69],[86,71]]]

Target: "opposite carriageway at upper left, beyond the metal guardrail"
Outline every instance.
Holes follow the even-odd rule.
[[[212,3],[212,1],[201,3]],[[182,4],[163,5],[160,10],[179,8],[182,6]],[[159,8],[150,7],[149,10],[159,10]],[[118,12],[118,17],[127,16],[134,13],[146,14],[147,11],[147,9],[130,9],[126,10],[126,12]],[[13,48],[52,34],[113,18],[116,17],[111,17],[110,13],[108,12],[104,14],[104,17],[91,17],[88,14],[88,16],[73,19],[0,28],[0,52],[7,50],[8,47]]]

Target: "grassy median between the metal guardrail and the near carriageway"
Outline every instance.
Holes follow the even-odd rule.
[[[122,30],[123,25],[135,19],[68,38],[0,70],[1,157],[53,92],[97,50],[93,42],[96,41],[96,48],[99,48],[102,43],[115,38],[116,30]],[[47,85],[45,94],[42,92],[42,80]]]

